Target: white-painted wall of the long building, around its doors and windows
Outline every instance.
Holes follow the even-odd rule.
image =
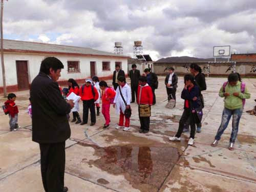
[[[111,78],[113,71],[115,70],[115,62],[122,62],[122,69],[127,74],[127,59],[126,58],[113,58],[113,57],[77,57],[77,56],[58,56],[58,55],[33,55],[33,54],[14,54],[5,53],[5,72],[6,72],[6,85],[9,87],[17,87],[17,72],[16,72],[16,60],[28,61],[28,76],[29,83],[35,78],[39,72],[41,61],[48,57],[57,57],[64,65],[64,69],[61,70],[61,77],[59,81],[67,81],[69,78],[73,79],[85,79],[91,76],[90,61],[96,61],[96,75],[98,77]],[[79,60],[80,73],[68,73],[68,60]],[[110,61],[111,70],[102,71],[102,61]],[[0,68],[0,92],[3,89],[3,76],[2,68]]]

